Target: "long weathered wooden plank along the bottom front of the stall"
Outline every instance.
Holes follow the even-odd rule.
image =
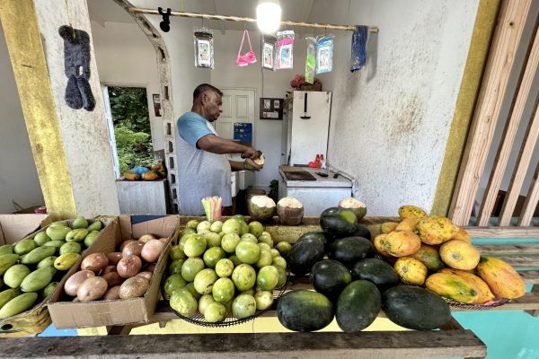
[[[487,347],[471,330],[364,331],[354,334],[231,333],[0,339],[0,355],[27,358],[417,358],[484,357]]]

